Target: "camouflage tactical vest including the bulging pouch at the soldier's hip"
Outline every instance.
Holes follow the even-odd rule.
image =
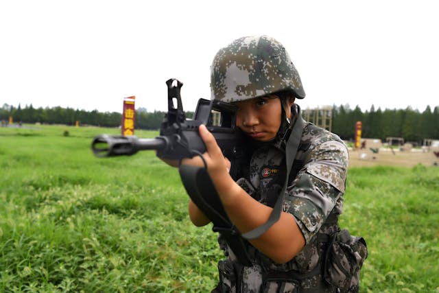
[[[312,124],[306,127],[312,128],[309,132],[321,131]],[[288,185],[304,167],[310,145],[306,139],[300,139]],[[273,146],[254,150],[246,164],[248,168],[241,170],[243,178],[237,183],[259,202],[273,207],[285,180],[281,163],[284,157],[283,150]],[[254,162],[258,159],[259,165]],[[243,240],[251,263],[244,265],[220,233],[219,246],[228,259],[218,263],[220,280],[213,292],[357,292],[359,269],[367,257],[366,242],[361,237],[351,237],[346,230],[340,231],[339,214],[333,209],[313,240],[283,264],[274,263]]]

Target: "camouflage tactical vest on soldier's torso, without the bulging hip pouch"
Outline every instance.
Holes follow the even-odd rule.
[[[309,124],[311,126],[311,124]],[[313,127],[313,126],[311,126]],[[288,185],[296,178],[296,174],[303,167],[303,159],[307,155],[309,143],[301,141],[298,145],[298,152],[292,165]],[[270,150],[271,149],[271,150]],[[282,160],[285,159],[283,150],[274,150],[272,146],[261,148],[255,151],[254,156],[270,156],[277,158],[257,158],[248,164],[248,169],[243,170],[244,178],[237,180],[237,183],[259,202],[273,207],[281,191],[281,185],[285,180],[285,168],[282,168]],[[281,159],[282,158],[282,159]],[[261,163],[256,166],[257,161],[271,162]],[[279,159],[281,161],[279,161]],[[259,172],[255,173],[255,170]],[[258,178],[255,178],[255,177]],[[259,180],[258,180],[259,179]],[[258,185],[254,189],[254,185]],[[332,215],[320,228],[321,233],[314,237],[314,241],[307,244],[300,253],[291,261],[283,264],[276,264],[245,241],[246,253],[250,257],[251,265],[244,266],[233,249],[227,244],[224,235],[218,238],[219,246],[228,257],[220,261],[218,269],[220,272],[219,288],[213,292],[259,292],[257,288],[263,288],[261,292],[335,292],[335,287],[327,284],[322,277],[324,266],[324,255],[329,242],[329,235],[340,230],[337,224],[338,215]]]

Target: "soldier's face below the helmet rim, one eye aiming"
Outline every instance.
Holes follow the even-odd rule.
[[[257,141],[270,141],[281,127],[282,105],[276,95],[236,102],[236,124]]]

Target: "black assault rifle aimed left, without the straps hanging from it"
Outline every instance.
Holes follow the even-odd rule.
[[[194,119],[187,119],[183,111],[180,89],[182,82],[167,80],[168,112],[155,139],[139,139],[135,136],[102,134],[93,139],[95,156],[132,155],[139,150],[157,150],[163,159],[182,159],[206,151],[198,134],[198,126],[204,124],[215,137],[224,156],[230,161],[240,156],[242,135],[235,127],[236,107],[218,100],[199,99]]]

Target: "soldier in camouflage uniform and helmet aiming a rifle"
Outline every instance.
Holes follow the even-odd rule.
[[[211,66],[211,90],[212,99],[237,106],[237,127],[250,141],[247,159],[233,178],[230,161],[213,135],[200,126],[207,171],[235,230],[242,235],[261,226],[276,200],[283,200],[278,220],[262,235],[245,241],[250,265],[239,262],[220,234],[227,259],[219,261],[219,284],[213,292],[337,292],[337,288],[356,292],[357,274],[352,277],[344,270],[337,274],[344,264],[349,267],[351,261],[345,261],[349,256],[337,255],[337,250],[341,264],[324,262],[329,242],[340,231],[337,219],[342,213],[348,150],[337,135],[300,117],[294,101],[304,98],[305,91],[283,45],[269,36],[251,36],[220,49]],[[298,147],[288,166],[285,156],[291,150],[286,145],[292,132],[299,133]],[[200,156],[183,159],[182,164],[204,166]],[[192,200],[189,216],[196,226],[211,222]],[[344,242],[354,239],[349,236]],[[362,263],[366,246],[355,256]]]

